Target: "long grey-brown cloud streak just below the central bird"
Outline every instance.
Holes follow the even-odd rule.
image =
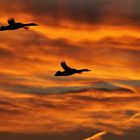
[[[47,95],[47,94],[65,94],[65,93],[81,93],[81,92],[124,92],[124,93],[133,93],[132,90],[114,86],[109,83],[99,82],[93,86],[58,86],[58,87],[33,87],[28,85],[20,85],[20,84],[13,84],[13,83],[2,83],[1,82],[1,89],[6,91],[12,91],[15,93],[29,93],[34,95]],[[8,87],[8,88],[7,88]]]

